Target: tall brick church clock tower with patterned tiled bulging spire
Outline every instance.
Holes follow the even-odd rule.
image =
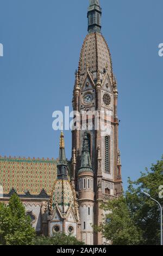
[[[103,220],[102,201],[122,194],[117,82],[112,71],[110,50],[101,33],[101,15],[99,0],[90,0],[88,34],[80,52],[72,100],[76,111],[74,117],[78,120],[76,129],[72,131],[72,159],[76,154],[76,161],[72,161],[72,180],[79,194],[81,230],[85,241],[86,234],[92,234],[90,226],[88,229],[86,226],[90,223],[86,210],[88,204],[93,207],[91,223],[99,225]],[[100,121],[99,127],[96,126],[97,120]],[[86,188],[88,179],[93,180],[93,188],[90,187],[89,192]],[[90,237],[86,243],[92,244]],[[93,235],[93,243],[104,243],[100,233]]]

